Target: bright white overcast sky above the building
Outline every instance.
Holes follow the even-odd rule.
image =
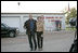
[[[1,13],[60,13],[68,3],[77,10],[77,1],[1,1]]]

